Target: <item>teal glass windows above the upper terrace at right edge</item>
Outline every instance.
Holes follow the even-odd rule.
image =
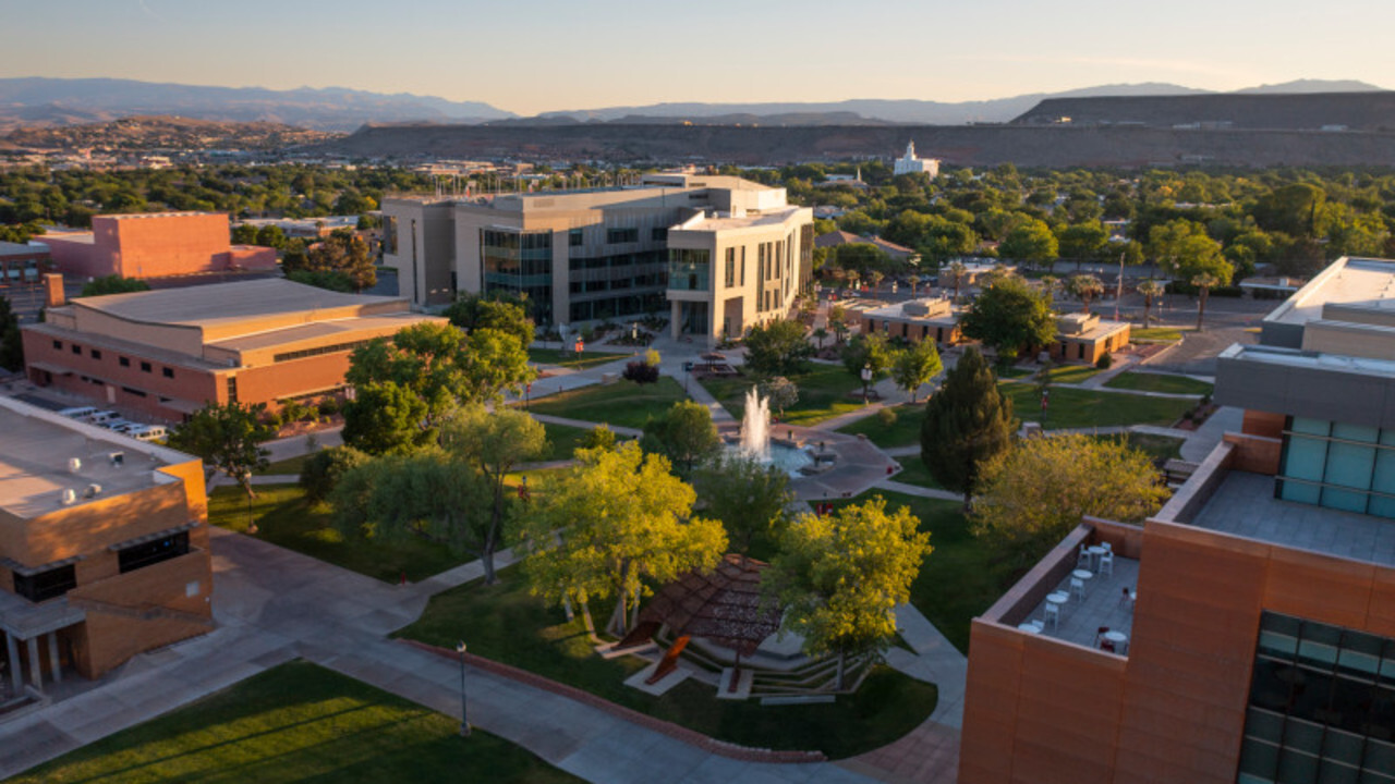
[[[1278,497],[1395,518],[1395,430],[1290,417]]]

